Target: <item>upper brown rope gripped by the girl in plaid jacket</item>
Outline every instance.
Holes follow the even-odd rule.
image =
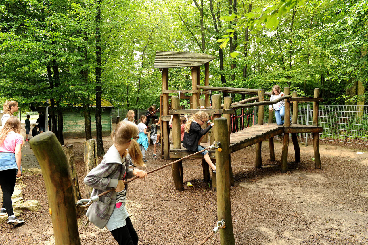
[[[202,152],[204,152],[205,150],[209,150],[209,149],[212,149],[212,148],[219,148],[219,147],[220,147],[220,142],[215,141],[215,142],[213,142],[213,144],[212,144],[212,145],[208,146],[207,148],[205,148],[205,149],[203,149],[203,150],[200,150],[199,152],[195,152],[195,153],[193,153],[193,154],[191,154],[191,155],[188,155],[188,156],[182,157],[182,158],[180,158],[180,159],[178,159],[178,160],[176,160],[176,161],[173,161],[173,162],[168,163],[168,164],[166,164],[166,165],[163,165],[163,166],[161,166],[161,167],[155,168],[155,169],[153,169],[153,170],[151,170],[151,171],[148,171],[148,172],[147,172],[147,174],[151,174],[151,173],[156,172],[156,171],[158,171],[158,170],[160,170],[160,169],[162,169],[162,168],[169,167],[169,166],[173,165],[174,163],[178,163],[179,161],[182,161],[182,160],[187,159],[187,158],[189,158],[189,157],[191,157],[191,156],[194,156],[194,155],[197,155],[197,154],[199,154],[199,153],[202,153]],[[138,176],[134,176],[133,178],[130,178],[130,179],[128,179],[128,180],[126,180],[126,181],[124,181],[124,184],[128,184],[129,182],[132,182],[133,180],[135,180],[135,179],[137,179],[137,178],[139,178],[139,177],[138,177]],[[99,195],[92,196],[91,198],[78,200],[78,202],[77,202],[77,203],[75,203],[75,206],[77,206],[77,207],[82,207],[82,208],[84,208],[84,207],[89,207],[89,206],[91,206],[91,203],[96,202],[96,201],[97,201],[101,196],[106,195],[107,193],[110,193],[110,192],[112,192],[112,191],[115,191],[115,188],[112,188],[112,189],[109,189],[109,190],[107,190],[107,191],[105,191],[105,192],[102,192],[102,193],[101,193],[101,194],[99,194]],[[85,202],[86,204],[83,204],[84,202]]]

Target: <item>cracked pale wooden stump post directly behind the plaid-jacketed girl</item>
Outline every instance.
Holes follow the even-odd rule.
[[[97,158],[97,141],[95,139],[87,139],[84,141],[84,165],[86,166],[86,175],[92,168],[98,165]],[[86,198],[90,198],[92,188],[86,186]]]

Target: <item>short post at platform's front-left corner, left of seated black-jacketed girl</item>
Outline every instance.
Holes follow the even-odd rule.
[[[180,109],[180,99],[178,96],[171,97],[173,110]],[[181,149],[181,131],[180,131],[180,115],[173,115],[173,147],[174,149]],[[178,158],[171,158],[171,161],[176,161]],[[171,174],[175,188],[177,191],[184,191],[183,186],[183,163],[180,161],[171,165]]]

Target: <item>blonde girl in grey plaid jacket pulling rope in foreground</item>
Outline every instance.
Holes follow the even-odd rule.
[[[130,168],[127,152],[137,166],[145,166],[139,150],[138,127],[135,123],[122,121],[116,125],[111,138],[113,145],[107,150],[101,163],[93,168],[84,178],[84,184],[93,188],[91,196],[99,195],[111,188],[109,192],[89,206],[86,216],[98,228],[111,232],[119,245],[137,245],[138,235],[132,226],[125,209],[127,186],[124,180],[133,177],[144,178],[147,173],[138,168]]]

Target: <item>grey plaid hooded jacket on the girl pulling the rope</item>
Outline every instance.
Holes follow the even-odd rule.
[[[123,159],[115,145],[112,145],[103,156],[101,163],[86,175],[84,184],[93,188],[91,196],[99,195],[111,188],[116,188],[118,180],[123,180],[125,170],[127,171],[124,180],[133,177],[134,168],[128,167],[129,160],[127,157]],[[127,188],[126,184],[125,188]],[[86,216],[88,219],[100,229],[106,226],[114,211],[116,194],[116,191],[112,191],[101,196],[87,210]]]

